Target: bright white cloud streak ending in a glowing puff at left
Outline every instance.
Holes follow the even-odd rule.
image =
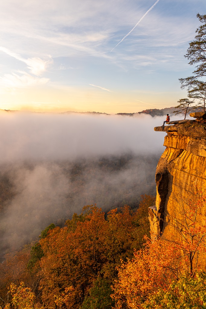
[[[27,65],[29,71],[36,76],[40,76],[42,73],[44,73],[48,65],[53,62],[52,57],[50,55],[47,56],[49,58],[48,60],[43,60],[38,57],[25,59],[3,46],[0,46],[0,51],[6,53],[11,57],[14,57],[19,61],[24,62]]]

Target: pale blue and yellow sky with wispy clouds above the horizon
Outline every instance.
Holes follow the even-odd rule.
[[[0,109],[115,114],[177,105],[205,0],[0,3]]]

